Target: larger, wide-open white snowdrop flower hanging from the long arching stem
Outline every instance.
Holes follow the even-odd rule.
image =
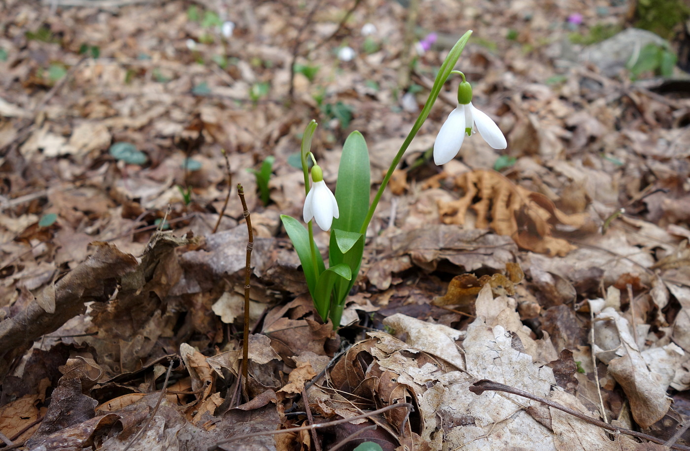
[[[472,105],[472,87],[463,77],[457,87],[457,108],[448,115],[433,144],[434,163],[440,166],[455,158],[465,135],[471,136],[476,131],[494,149],[508,147],[506,137],[496,123]]]

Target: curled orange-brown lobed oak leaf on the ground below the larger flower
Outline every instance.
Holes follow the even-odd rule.
[[[455,178],[455,186],[465,194],[457,201],[438,203],[444,223],[464,225],[467,210],[472,208],[476,228],[491,228],[512,237],[526,250],[563,257],[575,246],[553,237],[554,226],[581,229],[586,225],[585,214],[565,214],[544,194],[517,186],[495,171],[466,172]]]

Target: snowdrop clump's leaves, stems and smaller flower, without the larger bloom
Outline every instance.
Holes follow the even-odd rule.
[[[340,325],[346,298],[353,288],[359,273],[359,266],[362,264],[366,229],[373,218],[388,181],[428,117],[446,79],[454,72],[453,67],[457,63],[457,59],[460,58],[471,34],[471,31],[466,32],[451,48],[442,63],[424,108],[422,108],[400,150],[393,158],[391,166],[371,202],[369,201],[371,185],[369,152],[362,134],[352,132],[344,143],[334,195],[326,186],[323,171],[316,165],[315,157],[311,153],[311,141],[317,128],[316,122],[311,121],[304,130],[300,157],[306,192],[304,221],[306,221],[307,226],[305,228],[300,221],[286,214],[281,215],[280,218],[288,232],[290,241],[293,242],[299,262],[302,263],[302,270],[314,306],[324,321],[328,321],[328,319],[333,321],[333,328]],[[477,127],[479,127],[478,124]],[[462,131],[465,132],[465,130]],[[480,132],[484,136],[482,128],[480,128]],[[315,163],[311,170],[313,181],[311,189],[307,166],[308,158],[311,158]],[[324,258],[314,241],[313,221],[316,221],[322,230],[329,228],[331,230],[331,238],[328,243],[328,268],[326,268]]]

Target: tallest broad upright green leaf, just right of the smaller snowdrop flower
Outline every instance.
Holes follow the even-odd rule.
[[[369,209],[370,172],[366,141],[362,133],[352,132],[345,141],[340,157],[335,186],[335,200],[340,217],[333,219],[332,228],[359,232]]]

